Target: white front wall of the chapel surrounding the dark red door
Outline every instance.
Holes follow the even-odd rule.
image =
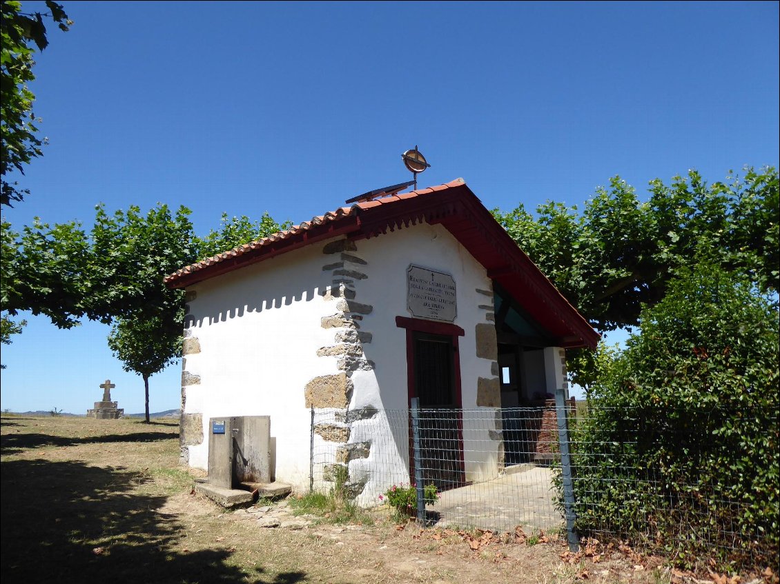
[[[459,361],[463,409],[463,448],[466,452],[466,480],[483,480],[498,473],[498,444],[488,432],[495,428],[495,410],[477,409],[477,378],[491,378],[493,361],[477,357],[475,326],[488,322],[491,311],[478,308],[492,304],[492,298],[480,294],[480,290],[492,290],[491,280],[484,267],[463,248],[445,227],[427,223],[396,230],[381,237],[357,241],[360,257],[367,260],[363,272],[366,280],[357,283],[358,299],[374,307],[365,315],[360,326],[373,335],[372,342],[363,346],[367,359],[374,361],[373,371],[356,371],[353,408],[371,405],[378,410],[388,410],[392,420],[397,420],[395,436],[379,436],[376,425],[363,423],[374,434],[371,455],[350,463],[350,474],[360,473],[376,461],[406,461],[408,456],[408,430],[405,419],[399,413],[406,412],[408,402],[406,371],[406,329],[395,324],[396,316],[411,317],[406,308],[406,271],[410,264],[437,272],[449,273],[456,282],[457,317],[452,323],[461,327],[465,335],[459,337]],[[489,411],[488,411],[489,410]],[[491,425],[494,424],[494,425]],[[360,425],[355,424],[353,434],[359,442]],[[389,429],[388,429],[389,431]],[[367,431],[367,434],[369,431]],[[395,452],[392,452],[396,449]],[[394,463],[392,481],[408,482],[406,464]],[[366,485],[361,501],[371,501],[388,487],[387,477],[376,477]],[[392,482],[391,481],[391,482]]]

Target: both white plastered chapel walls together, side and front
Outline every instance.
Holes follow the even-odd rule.
[[[275,477],[307,489],[309,484],[310,412],[304,389],[313,378],[339,373],[339,355],[318,356],[333,347],[346,329],[323,328],[322,319],[334,315],[338,297],[323,294],[332,285],[332,270],[339,259],[323,253],[325,243],[311,245],[278,258],[207,280],[188,291],[193,322],[187,331],[197,338],[200,352],[186,355],[186,371],[200,377],[186,386],[185,413],[201,413],[203,442],[189,446],[191,466],[207,468],[208,420],[238,415],[271,417],[275,442]],[[479,378],[494,378],[490,358],[477,357],[475,327],[490,323],[491,280],[483,266],[441,226],[420,224],[380,237],[356,241],[349,254],[365,264],[365,278],[350,280],[356,302],[371,311],[354,321],[360,332],[370,332],[362,343],[361,359],[367,367],[347,371],[353,392],[349,410],[373,406],[371,419],[349,424],[349,443],[371,445],[366,458],[348,462],[350,480],[365,484],[358,502],[369,505],[393,483],[408,482],[408,399],[406,330],[396,316],[411,317],[406,309],[406,271],[410,264],[449,273],[456,282],[459,365],[463,408],[463,446],[466,480],[485,480],[500,470],[500,420],[495,408],[477,407]],[[346,276],[342,276],[344,278]],[[349,280],[349,278],[347,278]],[[479,308],[482,306],[483,308]],[[371,368],[373,364],[373,368]],[[321,410],[327,411],[327,410]],[[274,440],[275,438],[275,440]],[[339,444],[314,436],[318,454],[335,455]],[[379,470],[381,469],[381,470]]]

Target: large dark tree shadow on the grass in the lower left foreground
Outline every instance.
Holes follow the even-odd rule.
[[[293,584],[305,579],[303,572],[248,576],[229,565],[232,552],[226,549],[177,551],[184,526],[176,516],[156,511],[165,497],[133,493],[138,480],[137,473],[76,461],[3,462],[2,582]]]

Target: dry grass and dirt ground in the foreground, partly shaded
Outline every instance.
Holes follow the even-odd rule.
[[[695,580],[625,550],[572,556],[565,541],[544,533],[396,526],[386,509],[367,525],[296,516],[289,501],[225,512],[193,494],[202,473],[179,466],[178,454],[174,420],[4,414],[4,584]]]

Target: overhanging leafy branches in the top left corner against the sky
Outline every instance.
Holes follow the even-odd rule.
[[[41,14],[22,12],[21,2],[3,0],[2,58],[0,58],[0,116],[2,116],[2,150],[0,150],[0,204],[11,206],[11,201],[21,201],[28,189],[18,188],[18,182],[9,181],[6,175],[16,170],[24,174],[24,166],[40,157],[44,140],[37,137],[36,124],[40,121],[33,113],[34,94],[27,84],[35,79],[33,61],[35,45],[39,51],[48,46],[44,17],[58,23],[67,31],[72,23],[62,5],[46,0],[49,12]]]

